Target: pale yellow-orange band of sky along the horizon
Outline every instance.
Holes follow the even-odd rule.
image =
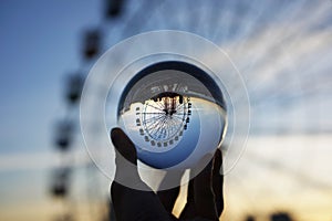
[[[300,221],[331,221],[332,182],[328,176],[331,175],[331,143],[329,135],[250,137],[238,165],[225,177],[222,219],[241,221],[246,214],[253,214],[264,221],[271,212],[290,211]],[[257,154],[260,160],[252,158]],[[74,182],[72,201],[80,220],[90,221],[89,206],[93,204],[94,214],[101,214],[98,211],[104,210],[97,204],[105,202],[110,185],[95,170],[105,189],[103,194],[97,192],[91,203],[85,191],[87,186],[94,188],[94,182],[84,180],[83,172],[79,170],[75,175],[79,181]],[[15,172],[11,173],[14,177]],[[32,172],[9,178],[0,191],[0,220],[51,220],[59,214],[61,206],[48,193],[45,175]],[[10,185],[13,180],[15,183]],[[178,200],[178,207],[184,202],[184,198]]]

